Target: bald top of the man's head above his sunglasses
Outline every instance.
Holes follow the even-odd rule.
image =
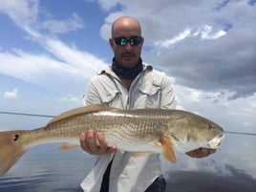
[[[121,32],[136,32],[141,36],[139,21],[131,16],[122,16],[112,25],[112,37],[118,36]]]

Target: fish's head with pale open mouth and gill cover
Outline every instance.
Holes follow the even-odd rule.
[[[166,129],[168,137],[181,152],[201,147],[216,149],[224,139],[224,129],[220,125],[187,111],[175,110]]]

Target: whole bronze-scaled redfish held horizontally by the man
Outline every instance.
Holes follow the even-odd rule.
[[[187,111],[90,105],[54,117],[38,129],[0,132],[0,176],[31,147],[50,142],[63,142],[63,151],[78,147],[80,134],[89,129],[102,133],[108,145],[117,144],[118,150],[162,153],[172,162],[176,162],[175,151],[215,149],[224,139],[219,125]]]

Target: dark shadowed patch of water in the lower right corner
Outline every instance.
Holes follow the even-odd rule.
[[[234,176],[203,171],[177,171],[169,175],[167,188],[175,192],[255,192],[255,179],[243,171],[236,171],[237,175]]]

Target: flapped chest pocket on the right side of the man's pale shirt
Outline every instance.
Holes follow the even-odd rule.
[[[146,108],[160,108],[161,79],[154,78],[151,82],[139,86],[140,102],[144,102]]]

